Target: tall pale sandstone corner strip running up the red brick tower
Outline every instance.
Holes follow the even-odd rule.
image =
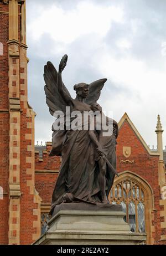
[[[9,1],[9,244],[20,243],[20,95],[18,2]]]

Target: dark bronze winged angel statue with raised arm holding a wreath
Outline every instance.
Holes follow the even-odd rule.
[[[56,71],[51,62],[44,66],[44,90],[50,114],[63,111],[66,115],[66,106],[70,106],[71,112],[102,112],[97,100],[107,79],[74,85],[76,98],[72,99],[61,77],[67,60],[68,55],[64,55],[59,64],[59,71]],[[74,117],[71,117],[70,121],[72,120]],[[54,126],[52,130],[53,144],[49,156],[62,156],[62,161],[50,213],[53,214],[57,204],[65,202],[109,203],[108,194],[117,174],[117,122],[113,120],[113,134],[105,137],[102,129],[97,131],[96,126],[94,131],[84,130],[83,127],[78,130],[55,130]]]

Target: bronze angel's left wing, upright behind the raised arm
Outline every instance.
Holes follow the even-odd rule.
[[[51,115],[54,115],[54,112],[58,110],[65,112],[66,107],[65,101],[58,91],[57,78],[58,72],[56,71],[54,65],[51,62],[46,63],[44,66],[44,91],[46,95],[46,104],[49,107]],[[64,84],[63,90],[70,96],[70,93]]]

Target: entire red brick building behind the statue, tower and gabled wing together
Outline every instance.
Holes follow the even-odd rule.
[[[35,112],[27,99],[25,1],[0,1],[0,244],[31,244],[44,232],[60,157],[51,143],[34,146]],[[132,232],[166,244],[162,126],[150,150],[128,115],[119,122],[117,171],[111,203],[121,203]]]

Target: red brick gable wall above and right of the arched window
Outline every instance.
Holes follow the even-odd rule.
[[[160,235],[164,234],[164,229],[160,228],[160,188],[158,183],[158,156],[149,155],[141,141],[132,130],[127,121],[121,126],[119,136],[117,139],[117,171],[131,171],[137,173],[144,178],[152,187],[154,194],[154,219],[152,225],[154,225],[154,244],[165,244],[165,240],[160,240]],[[131,147],[131,156],[126,158],[123,155],[123,146]],[[122,162],[121,160],[134,160],[134,163]]]

